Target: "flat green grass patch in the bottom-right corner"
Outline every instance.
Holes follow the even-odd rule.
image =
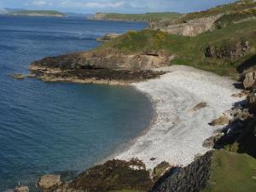
[[[256,189],[256,160],[247,154],[215,151],[212,176],[203,192],[253,192]]]

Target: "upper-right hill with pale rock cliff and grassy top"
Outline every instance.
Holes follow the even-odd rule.
[[[255,18],[256,2],[244,0],[190,13],[179,18],[153,21],[149,23],[149,26],[153,30],[195,37],[204,32],[229,26],[231,23],[255,20]]]

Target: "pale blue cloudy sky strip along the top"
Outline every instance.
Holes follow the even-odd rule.
[[[236,0],[0,0],[0,8],[55,9],[76,13],[146,13],[177,11],[188,13]]]

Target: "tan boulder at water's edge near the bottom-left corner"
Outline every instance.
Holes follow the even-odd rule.
[[[39,186],[42,189],[50,189],[61,185],[61,176],[60,175],[44,175],[40,178],[38,182]]]

